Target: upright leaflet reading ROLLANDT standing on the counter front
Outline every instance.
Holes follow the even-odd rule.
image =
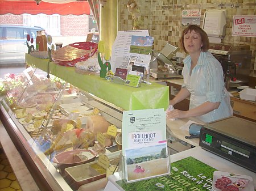
[[[170,161],[164,110],[123,112],[122,148],[127,182],[168,175]]]

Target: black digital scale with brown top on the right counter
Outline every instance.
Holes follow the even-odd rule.
[[[233,163],[256,172],[256,123],[228,117],[204,125],[199,145]]]

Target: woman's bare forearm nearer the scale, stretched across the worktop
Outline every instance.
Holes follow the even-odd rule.
[[[199,105],[196,108],[190,109],[188,111],[180,111],[179,109],[175,109],[174,111],[170,111],[167,113],[167,118],[188,118],[188,117],[196,117],[201,116],[203,114],[209,113],[214,109],[217,109],[220,105],[220,102],[212,103],[209,101],[205,101],[203,104]]]

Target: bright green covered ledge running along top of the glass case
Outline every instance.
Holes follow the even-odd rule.
[[[26,54],[26,63],[47,71],[48,59],[40,59]],[[134,88],[109,82],[98,75],[76,73],[75,67],[67,67],[49,63],[49,73],[89,92],[101,99],[121,107],[126,111],[137,109],[166,109],[169,104],[168,86],[162,84],[142,84]]]

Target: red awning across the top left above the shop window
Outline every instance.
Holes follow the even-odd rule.
[[[0,0],[0,14],[11,13],[20,15],[23,13],[36,15],[39,13],[52,15],[90,15],[90,6],[87,1],[77,1],[71,3],[47,3],[35,1],[2,1]]]

